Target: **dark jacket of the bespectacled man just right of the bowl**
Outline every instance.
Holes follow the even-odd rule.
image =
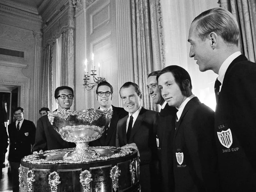
[[[114,107],[113,108],[113,115],[110,120],[110,125],[106,125],[105,132],[102,136],[89,143],[90,146],[116,146],[116,125],[119,119],[128,115],[128,112],[124,110],[124,108]]]

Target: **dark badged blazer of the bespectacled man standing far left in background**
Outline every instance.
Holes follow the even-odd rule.
[[[32,121],[26,119],[17,131],[16,121],[8,126],[10,138],[10,150],[8,160],[20,162],[20,160],[32,152],[32,146],[35,143],[36,126]]]

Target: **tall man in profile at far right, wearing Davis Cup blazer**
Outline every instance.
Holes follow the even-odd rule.
[[[188,36],[200,71],[218,74],[214,135],[222,191],[256,191],[256,65],[239,51],[239,31],[230,12],[214,8],[193,20]]]

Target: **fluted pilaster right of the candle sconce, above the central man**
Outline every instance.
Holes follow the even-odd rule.
[[[134,82],[130,1],[116,0],[116,44],[118,87],[121,87],[127,81]],[[118,104],[122,106],[120,97]]]

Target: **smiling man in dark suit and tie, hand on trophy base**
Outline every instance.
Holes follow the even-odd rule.
[[[153,130],[159,113],[141,106],[142,95],[139,86],[135,83],[123,84],[119,94],[123,107],[129,114],[117,123],[116,145],[139,150],[141,191],[150,192],[155,184],[154,175],[151,174],[155,171],[150,167],[152,156],[156,156],[156,139]]]

